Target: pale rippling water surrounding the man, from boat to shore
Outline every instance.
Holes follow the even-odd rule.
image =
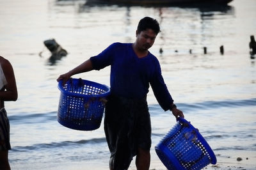
[[[83,132],[56,121],[60,95],[56,78],[112,42],[133,42],[138,21],[146,15],[156,18],[162,30],[150,52],[161,63],[175,103],[210,144],[218,164],[234,162],[234,169],[256,168],[256,66],[248,47],[250,35],[256,36],[256,1],[234,0],[229,6],[211,8],[85,3],[0,0],[0,55],[12,63],[19,90],[17,102],[6,102],[13,169],[57,169],[68,162],[108,168],[102,125]],[[68,56],[50,60],[43,43],[50,38],[55,38]],[[109,68],[74,77],[109,85]],[[175,119],[159,107],[151,89],[148,105],[151,168],[164,169],[154,167],[156,162],[161,164],[154,146]],[[243,160],[237,162],[237,157]]]

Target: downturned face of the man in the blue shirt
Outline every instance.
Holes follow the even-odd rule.
[[[136,31],[136,43],[140,50],[148,50],[156,40],[156,33],[152,29],[146,29],[138,33]]]

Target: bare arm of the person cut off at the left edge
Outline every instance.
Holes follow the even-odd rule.
[[[0,91],[0,100],[3,101],[16,101],[18,98],[17,86],[15,81],[15,75],[11,63],[4,59],[1,63],[4,76],[7,84],[4,86],[4,91]]]

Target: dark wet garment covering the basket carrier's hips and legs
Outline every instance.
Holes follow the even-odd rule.
[[[147,99],[109,97],[106,104],[104,130],[111,152],[109,166],[128,169],[138,148],[150,150],[151,125]]]

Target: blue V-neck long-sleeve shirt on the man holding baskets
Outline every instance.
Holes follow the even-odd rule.
[[[150,84],[159,105],[164,111],[170,109],[172,96],[164,83],[159,61],[150,52],[147,56],[138,58],[132,49],[132,43],[113,43],[90,60],[94,70],[111,65],[111,94],[143,98],[147,95]]]

